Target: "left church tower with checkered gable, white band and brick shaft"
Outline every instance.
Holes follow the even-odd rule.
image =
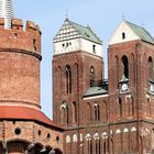
[[[81,153],[80,127],[86,116],[84,95],[103,78],[102,43],[89,26],[64,21],[54,37],[53,55],[53,106],[54,122],[65,128],[66,142],[73,134],[74,145],[65,146],[65,153]],[[77,142],[78,141],[78,142]]]

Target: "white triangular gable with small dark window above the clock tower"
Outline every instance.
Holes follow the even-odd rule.
[[[109,45],[134,40],[140,40],[140,37],[133,32],[125,21],[122,21],[111,37]]]

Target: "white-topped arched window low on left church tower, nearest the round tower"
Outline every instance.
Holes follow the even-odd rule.
[[[68,124],[69,123],[69,118],[68,118],[68,105],[67,105],[67,102],[63,102],[62,105],[61,105],[61,123],[62,124]]]

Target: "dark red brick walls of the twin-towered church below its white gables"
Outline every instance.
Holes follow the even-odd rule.
[[[84,51],[53,56],[54,121],[65,128],[65,154],[153,152],[153,57],[154,45],[144,41],[110,45],[108,94],[86,97],[91,66],[95,81],[103,80],[102,58]],[[120,86],[123,74],[125,91]]]

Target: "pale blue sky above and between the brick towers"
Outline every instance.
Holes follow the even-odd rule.
[[[42,30],[41,105],[52,118],[53,37],[62,26],[66,12],[77,23],[89,25],[103,41],[107,72],[107,47],[118,24],[125,20],[144,25],[154,35],[153,0],[13,0],[15,18],[34,21]],[[106,74],[107,76],[107,74]]]

